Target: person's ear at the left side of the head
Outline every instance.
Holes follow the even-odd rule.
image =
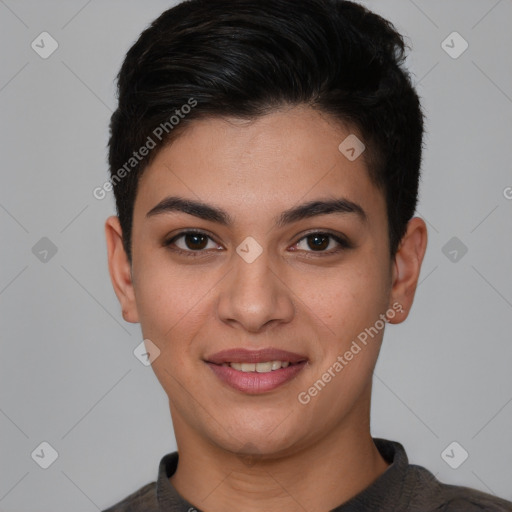
[[[105,222],[107,239],[108,270],[112,286],[121,304],[123,318],[127,322],[138,323],[139,315],[135,302],[131,264],[123,246],[123,230],[119,218],[109,217]]]

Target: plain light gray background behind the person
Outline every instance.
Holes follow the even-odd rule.
[[[364,4],[408,37],[428,117],[418,215],[429,246],[408,320],[386,329],[373,435],[441,480],[512,499],[512,2]],[[112,197],[92,195],[107,178],[114,77],[171,5],[0,0],[4,512],[104,508],[155,480],[175,449],[167,397],[133,355],[139,326],[111,289]],[[31,48],[43,31],[59,44],[47,59]],[[469,44],[457,59],[441,46],[453,31]],[[46,261],[43,237],[58,249]],[[59,454],[46,470],[31,457],[43,441]],[[453,441],[469,453],[458,469],[441,457]]]

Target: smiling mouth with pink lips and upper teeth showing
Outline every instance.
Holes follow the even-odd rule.
[[[223,350],[205,359],[222,383],[251,395],[272,391],[289,382],[307,361],[302,354],[273,348]]]

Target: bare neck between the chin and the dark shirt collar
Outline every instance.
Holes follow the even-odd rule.
[[[324,512],[364,490],[388,467],[368,419],[352,418],[347,423],[355,427],[341,425],[306,448],[274,458],[241,457],[173,421],[179,462],[170,481],[185,500],[207,512]],[[180,435],[184,429],[186,435]]]

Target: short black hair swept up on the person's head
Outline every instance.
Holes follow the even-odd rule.
[[[130,261],[138,180],[162,145],[197,119],[256,119],[294,105],[362,137],[394,257],[416,209],[424,129],[405,48],[389,21],[344,0],[187,0],[162,13],[126,54],[110,122],[110,179]],[[152,149],[135,159],[143,146]]]

